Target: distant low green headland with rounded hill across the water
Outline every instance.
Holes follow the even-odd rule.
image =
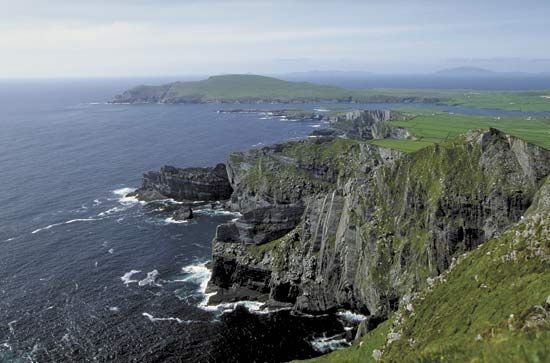
[[[550,111],[549,91],[350,90],[307,82],[289,82],[250,74],[212,76],[201,81],[138,86],[114,98],[115,103],[209,102],[428,102],[476,108]]]

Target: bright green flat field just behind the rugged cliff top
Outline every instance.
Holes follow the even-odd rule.
[[[427,145],[449,140],[469,130],[502,130],[533,144],[550,149],[550,118],[548,117],[489,117],[468,116],[430,110],[404,110],[412,118],[407,121],[390,122],[392,126],[404,127],[416,140],[374,140],[372,144],[414,152]]]

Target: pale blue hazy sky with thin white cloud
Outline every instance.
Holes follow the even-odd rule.
[[[0,78],[550,72],[550,1],[0,0]]]

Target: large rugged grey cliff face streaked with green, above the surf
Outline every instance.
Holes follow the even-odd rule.
[[[517,222],[549,173],[549,151],[498,130],[411,155],[342,138],[234,154],[231,204],[245,215],[218,229],[211,282],[229,298],[244,288],[301,311],[383,318]]]

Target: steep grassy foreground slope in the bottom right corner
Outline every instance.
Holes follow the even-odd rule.
[[[550,179],[539,200],[546,204],[415,296],[391,329],[380,325],[363,338],[368,345],[312,362],[369,362],[373,349],[383,362],[550,361]],[[388,331],[399,339],[374,338]]]

